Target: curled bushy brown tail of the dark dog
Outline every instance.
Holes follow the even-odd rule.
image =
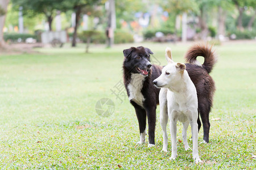
[[[185,59],[187,62],[193,65],[200,65],[199,61],[197,61],[197,57],[204,57],[203,67],[207,70],[208,73],[212,71],[214,64],[217,62],[217,57],[212,50],[212,46],[197,44],[192,46],[187,54],[185,54]]]

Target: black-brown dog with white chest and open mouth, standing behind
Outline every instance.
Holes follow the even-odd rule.
[[[140,141],[145,142],[146,119],[148,121],[148,146],[155,145],[156,105],[159,104],[159,88],[152,83],[160,76],[163,67],[151,65],[150,49],[139,46],[123,50],[123,82],[130,103],[135,108],[139,122]],[[196,60],[197,56],[204,57],[203,65]],[[186,70],[197,90],[198,109],[203,122],[204,142],[209,142],[209,112],[212,107],[215,91],[214,81],[209,75],[216,63],[216,57],[211,48],[206,45],[195,45],[185,55]],[[198,129],[201,127],[197,120]]]

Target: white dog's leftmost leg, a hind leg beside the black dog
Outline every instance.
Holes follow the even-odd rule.
[[[167,152],[168,147],[168,137],[166,126],[168,122],[168,111],[167,111],[167,88],[161,88],[159,93],[159,106],[160,106],[160,125],[163,130],[163,150]]]

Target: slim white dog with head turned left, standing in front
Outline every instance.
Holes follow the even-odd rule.
[[[166,48],[166,59],[168,65],[162,70],[162,74],[154,80],[156,87],[161,88],[159,94],[160,104],[160,124],[163,129],[163,151],[167,152],[166,126],[168,117],[170,118],[170,131],[172,140],[172,155],[170,159],[177,157],[177,121],[183,123],[182,137],[185,150],[189,149],[187,141],[187,129],[191,124],[193,139],[193,159],[195,163],[202,162],[199,158],[197,138],[197,94],[196,87],[189,78],[184,63],[172,61],[171,49]],[[167,111],[168,110],[168,111]]]

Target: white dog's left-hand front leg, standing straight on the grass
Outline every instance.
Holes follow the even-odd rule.
[[[171,140],[172,140],[172,155],[171,160],[176,159],[177,157],[177,121],[170,121],[170,132],[171,132]]]

